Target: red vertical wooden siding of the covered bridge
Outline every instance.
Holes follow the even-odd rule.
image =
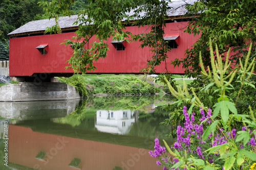
[[[187,22],[166,23],[166,35],[179,35],[178,48],[168,52],[167,69],[173,73],[182,74],[184,69],[182,66],[174,69],[170,65],[170,60],[175,58],[183,58],[185,50],[193,45],[197,37],[184,33]],[[137,26],[127,27],[126,30],[133,34],[144,32],[146,27]],[[20,37],[10,39],[10,76],[31,76],[34,73],[72,73],[73,70],[65,69],[67,60],[72,55],[72,48],[61,44],[65,39],[71,39],[72,33],[62,33],[53,35],[38,35],[31,37]],[[112,39],[111,39],[112,40]],[[139,73],[141,68],[146,66],[146,62],[151,58],[152,54],[148,47],[139,48],[140,42],[131,42],[125,44],[124,51],[117,51],[111,40],[108,42],[110,51],[105,59],[95,63],[98,68],[94,73]],[[48,44],[46,55],[42,55],[35,47],[40,44]],[[165,64],[162,63],[156,67],[157,73],[165,71]]]

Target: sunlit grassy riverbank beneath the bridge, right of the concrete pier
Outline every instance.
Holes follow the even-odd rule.
[[[141,75],[74,75],[59,78],[76,89],[82,96],[93,94],[155,94],[168,92],[166,85],[154,83],[152,77]]]

